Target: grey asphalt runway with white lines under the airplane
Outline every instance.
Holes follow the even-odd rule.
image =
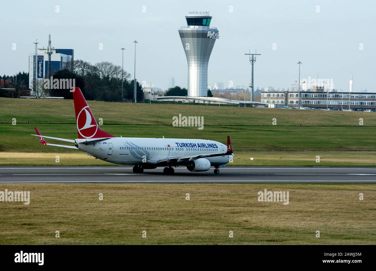
[[[132,167],[0,167],[0,183],[376,183],[375,167],[225,167],[164,175],[163,167],[135,174]]]

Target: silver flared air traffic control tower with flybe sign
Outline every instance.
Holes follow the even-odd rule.
[[[208,63],[218,29],[210,26],[209,12],[190,12],[188,26],[179,29],[188,62],[188,96],[208,95]]]

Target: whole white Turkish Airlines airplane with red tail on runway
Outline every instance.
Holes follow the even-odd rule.
[[[173,167],[186,166],[191,172],[208,171],[213,166],[214,173],[233,160],[230,137],[227,146],[212,140],[167,139],[141,137],[115,137],[99,128],[79,87],[74,87],[73,102],[76,113],[78,139],[62,139],[42,136],[36,127],[36,135],[43,145],[79,149],[109,163],[134,165],[133,173],[143,173],[144,169],[165,167],[163,173],[174,173]],[[47,143],[44,138],[74,143],[74,146]]]

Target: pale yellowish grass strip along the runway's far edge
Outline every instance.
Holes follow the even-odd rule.
[[[227,166],[376,167],[376,152],[372,151],[236,151],[234,155],[233,163]],[[59,156],[59,163],[56,163],[56,156]],[[320,156],[320,163],[316,162],[316,156]],[[116,166],[89,157],[80,151],[76,153],[0,152],[0,165]]]

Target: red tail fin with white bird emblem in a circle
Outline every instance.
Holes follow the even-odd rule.
[[[73,88],[73,102],[79,139],[114,137],[99,128],[79,87]]]

